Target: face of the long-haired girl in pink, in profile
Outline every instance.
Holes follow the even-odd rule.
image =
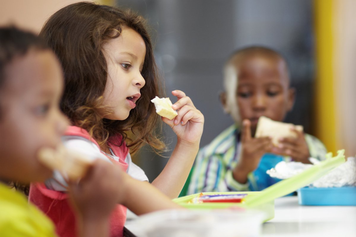
[[[112,113],[103,115],[112,120],[125,120],[136,107],[140,89],[145,85],[141,75],[146,45],[140,34],[123,27],[119,37],[103,46],[108,65],[108,80],[104,90],[104,104]]]

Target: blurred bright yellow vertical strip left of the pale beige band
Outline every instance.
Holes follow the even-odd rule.
[[[328,151],[336,150],[336,116],[334,91],[333,0],[315,0],[315,135]]]

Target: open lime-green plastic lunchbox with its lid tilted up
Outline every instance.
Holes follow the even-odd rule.
[[[321,176],[345,162],[345,150],[337,151],[335,157],[327,158],[318,165],[314,165],[292,178],[284,179],[260,192],[205,192],[204,195],[212,194],[247,194],[242,203],[191,203],[192,199],[200,193],[173,199],[174,202],[188,209],[257,209],[265,212],[263,222],[274,217],[274,199],[294,192],[313,183]]]

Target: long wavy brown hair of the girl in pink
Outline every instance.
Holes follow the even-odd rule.
[[[102,103],[108,72],[103,45],[120,36],[122,27],[138,32],[146,45],[138,106],[126,120],[102,119],[99,115],[109,109]],[[110,136],[120,133],[132,153],[145,143],[154,149],[163,149],[164,143],[157,134],[162,123],[150,102],[162,92],[161,83],[146,21],[131,10],[78,2],[63,7],[53,14],[43,26],[40,35],[46,39],[62,63],[65,88],[61,101],[62,111],[76,126],[87,130],[102,146]],[[161,124],[161,126],[156,125]],[[132,136],[133,134],[133,136]],[[121,144],[117,144],[121,145]]]

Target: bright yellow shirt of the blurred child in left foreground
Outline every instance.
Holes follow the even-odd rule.
[[[0,236],[57,236],[45,214],[29,204],[21,193],[0,183]]]

